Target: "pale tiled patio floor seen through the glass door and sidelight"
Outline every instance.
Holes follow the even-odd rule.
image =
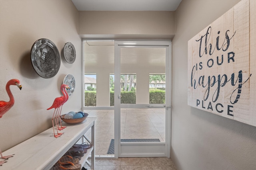
[[[84,110],[95,122],[95,154],[107,155],[114,139],[114,110]],[[86,133],[91,137],[90,130]],[[121,109],[121,139],[160,139],[165,141],[165,109]]]

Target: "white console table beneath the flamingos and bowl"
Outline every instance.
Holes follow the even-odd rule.
[[[92,139],[89,143],[93,145],[88,149],[80,160],[82,166],[86,163],[88,156],[91,154],[92,170],[95,166],[94,155],[94,133],[96,117],[87,117],[85,121],[77,125],[68,125],[62,122],[62,125],[67,126],[64,133],[58,138],[53,137],[53,129],[50,128],[11,149],[3,152],[3,155],[15,154],[0,166],[0,170],[50,170],[52,166],[81,138],[86,138],[84,134],[92,127]],[[84,139],[82,139],[84,140]]]

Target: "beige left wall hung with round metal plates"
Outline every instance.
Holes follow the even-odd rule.
[[[33,43],[41,38],[53,41],[60,53],[67,42],[76,48],[76,61],[68,64],[62,56],[60,70],[50,79],[38,76],[30,59]],[[52,126],[54,109],[46,109],[62,95],[60,85],[66,74],[74,75],[76,89],[62,113],[80,111],[81,46],[78,11],[71,0],[0,0],[0,100],[9,100],[8,80],[17,78],[22,84],[22,90],[11,87],[15,104],[0,119],[2,151]]]

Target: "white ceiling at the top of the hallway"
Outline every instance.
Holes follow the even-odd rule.
[[[78,11],[175,11],[181,0],[72,0]]]

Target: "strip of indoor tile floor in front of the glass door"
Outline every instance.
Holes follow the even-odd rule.
[[[89,160],[90,161],[90,160]],[[87,170],[91,168],[84,165]],[[177,170],[170,158],[118,158],[95,161],[94,170]]]

